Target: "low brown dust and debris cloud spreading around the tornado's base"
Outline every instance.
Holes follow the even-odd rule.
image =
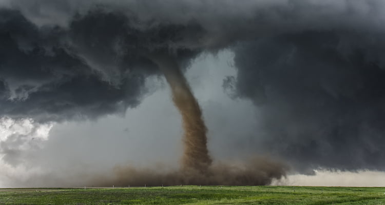
[[[269,185],[273,179],[285,176],[287,167],[267,157],[253,157],[242,162],[214,162],[206,170],[180,169],[157,172],[130,166],[114,168],[115,175],[106,181],[96,180],[101,186],[170,186],[170,185]]]

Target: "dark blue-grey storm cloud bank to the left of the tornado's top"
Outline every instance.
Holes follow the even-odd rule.
[[[146,53],[166,50],[186,63],[196,51],[178,44],[195,42],[200,29],[191,23],[139,30],[128,17],[102,10],[75,16],[68,29],[38,28],[16,10],[2,9],[0,16],[0,89],[13,91],[2,98],[0,113],[42,121],[138,105],[145,78],[158,73]]]

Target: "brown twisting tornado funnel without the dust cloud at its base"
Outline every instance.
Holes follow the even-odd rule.
[[[207,150],[207,128],[198,101],[192,94],[190,86],[174,57],[167,54],[155,54],[151,55],[150,58],[164,73],[171,88],[172,100],[182,115],[184,153],[181,169],[204,173],[211,165],[212,160]]]

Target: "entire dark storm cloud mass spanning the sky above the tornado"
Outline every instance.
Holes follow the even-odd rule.
[[[385,170],[383,1],[0,5],[2,117],[122,114],[161,74],[148,54],[167,53],[185,70],[201,53],[230,49],[237,75],[223,88],[257,108],[256,152],[305,173]]]

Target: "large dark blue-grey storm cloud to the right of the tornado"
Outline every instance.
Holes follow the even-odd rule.
[[[240,44],[237,95],[261,109],[260,147],[298,163],[385,170],[385,38],[303,31]]]

